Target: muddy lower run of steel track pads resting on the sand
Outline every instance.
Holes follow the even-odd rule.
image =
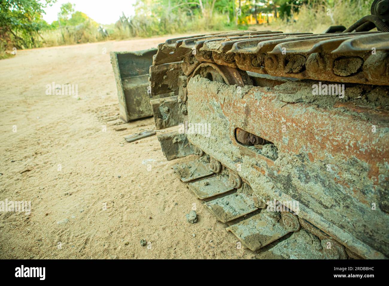
[[[219,161],[217,165],[220,168],[215,169],[215,161],[203,154],[197,160],[173,166],[173,170],[198,199],[206,200],[205,207],[218,221],[230,223],[226,230],[239,239],[238,248],[243,244],[251,251],[256,251],[260,259],[349,257],[345,247],[333,238],[320,233],[320,230],[316,234],[320,233],[321,238],[311,233],[309,229],[312,229],[312,225],[307,221],[303,221],[306,228],[301,228],[299,218],[293,211],[267,209],[265,202],[253,195],[250,186],[242,183],[234,171]],[[234,188],[237,181],[240,186]],[[287,235],[289,237],[284,239]],[[301,245],[308,247],[301,248]]]

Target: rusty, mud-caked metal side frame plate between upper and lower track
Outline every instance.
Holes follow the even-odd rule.
[[[312,90],[312,83],[308,85]],[[236,170],[259,197],[297,200],[300,218],[364,258],[385,258],[389,256],[389,114],[353,102],[318,107],[280,100],[303,88],[307,84],[298,89],[242,91],[193,77],[187,85],[188,121],[210,123],[211,132],[209,137],[188,134],[188,139]],[[240,145],[235,128],[273,142],[278,159]]]

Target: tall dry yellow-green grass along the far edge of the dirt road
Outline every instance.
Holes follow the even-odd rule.
[[[283,32],[322,33],[331,25],[349,27],[358,19],[370,14],[370,1],[334,0],[328,4],[324,0],[311,0],[310,5],[301,5],[300,10],[289,19],[277,19],[270,24],[257,26],[260,30],[282,30]],[[228,22],[226,14],[214,12],[212,19],[199,14],[180,11],[163,13],[161,16],[121,17],[116,24],[106,27],[107,34],[91,20],[77,26],[63,26],[56,30],[46,30],[36,37],[35,47],[51,47],[69,44],[98,42],[103,40],[124,40],[133,37],[152,37],[158,35],[223,31],[238,28],[233,21]],[[8,57],[5,46],[0,46],[0,58]]]

